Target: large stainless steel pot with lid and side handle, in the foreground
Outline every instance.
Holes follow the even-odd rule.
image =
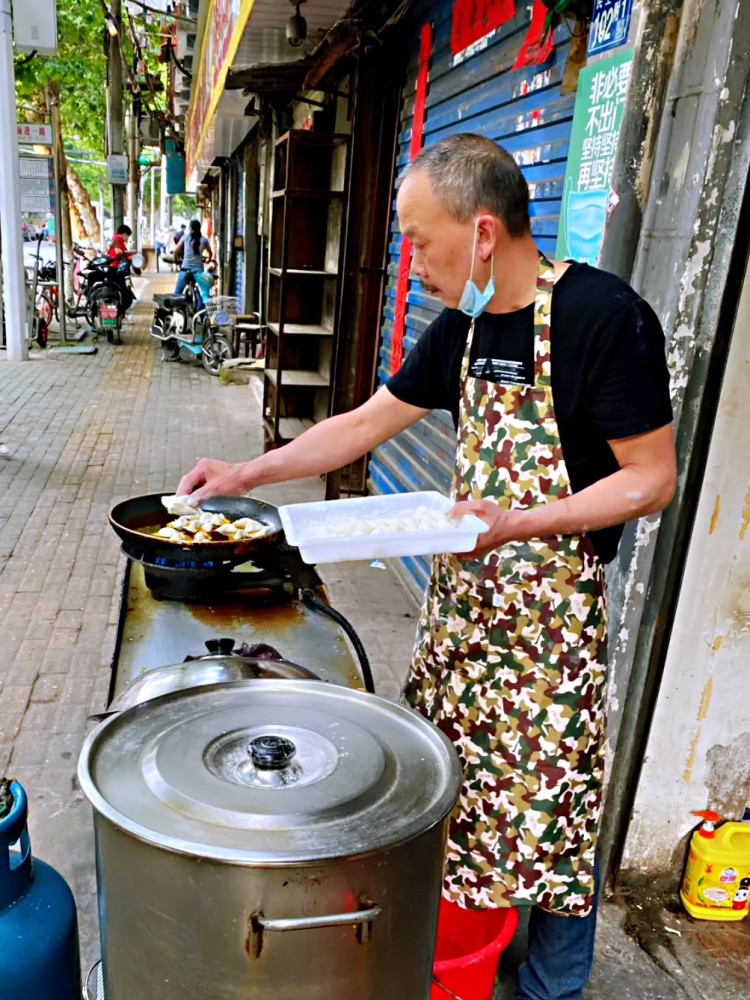
[[[428,1000],[458,758],[374,695],[245,680],[88,738],[107,1000]]]

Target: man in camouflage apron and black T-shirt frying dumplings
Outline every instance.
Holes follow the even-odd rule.
[[[405,690],[464,767],[444,892],[530,905],[516,1000],[577,1000],[596,922],[602,564],[676,480],[663,334],[618,278],[539,253],[523,175],[487,139],[424,150],[397,210],[413,272],[446,307],[402,369],[283,448],[201,459],[178,492],[199,503],[317,475],[452,412],[455,513],[489,530],[468,556],[435,558]]]

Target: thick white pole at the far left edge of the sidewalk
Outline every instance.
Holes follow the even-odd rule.
[[[5,330],[9,361],[26,361],[26,288],[21,234],[21,176],[16,128],[16,80],[10,0],[0,0],[0,226],[2,227]],[[60,252],[58,248],[58,253]]]

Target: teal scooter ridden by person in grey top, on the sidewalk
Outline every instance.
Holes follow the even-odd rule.
[[[188,271],[181,295],[155,295],[151,336],[162,345],[163,361],[200,359],[211,375],[234,357],[232,344],[222,329],[237,315],[237,299],[221,295],[211,298],[214,276]]]

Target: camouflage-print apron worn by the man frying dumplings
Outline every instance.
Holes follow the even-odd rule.
[[[540,259],[535,383],[461,369],[456,500],[526,508],[571,493],[552,400],[554,269]],[[601,811],[604,574],[585,536],[436,556],[405,697],[455,743],[464,783],[445,896],[586,916]]]

